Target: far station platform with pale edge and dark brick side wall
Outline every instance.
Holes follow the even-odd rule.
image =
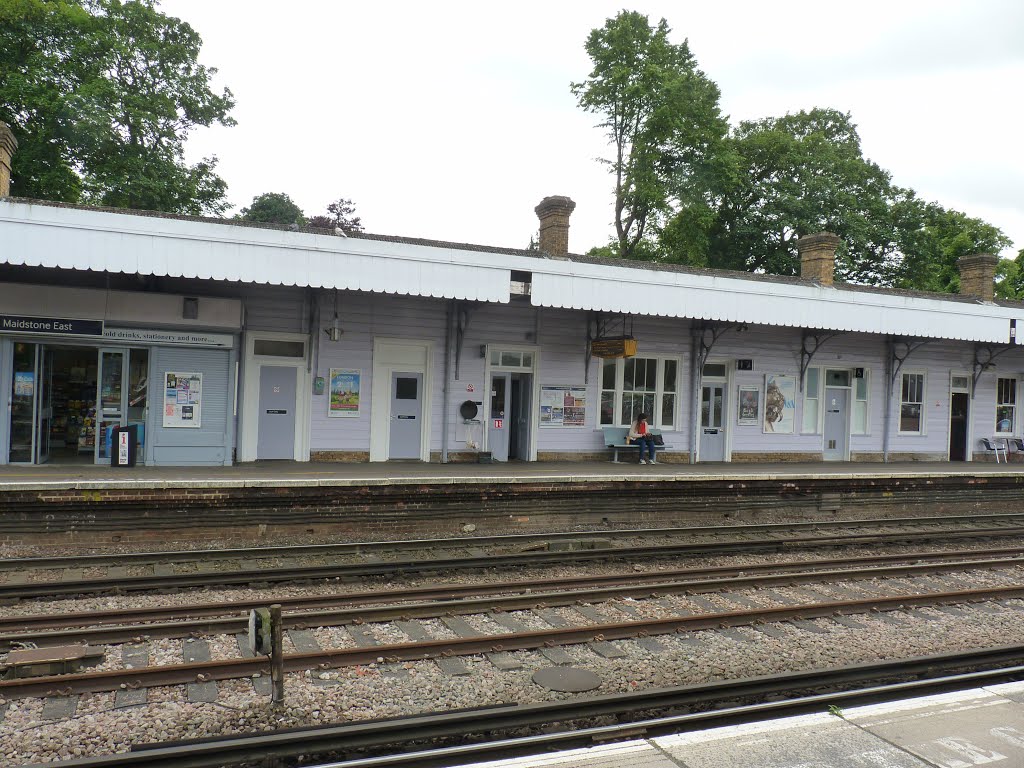
[[[1024,464],[0,467],[0,546],[315,543],[1024,511]]]

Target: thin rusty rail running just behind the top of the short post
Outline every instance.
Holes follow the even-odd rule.
[[[538,589],[584,589],[629,582],[640,584],[664,579],[711,579],[730,575],[781,572],[786,569],[807,570],[817,568],[856,567],[866,565],[893,565],[900,562],[923,563],[935,561],[971,561],[1022,556],[1020,547],[986,550],[954,550],[908,552],[895,555],[869,555],[860,557],[830,558],[823,560],[788,560],[775,563],[749,563],[719,565],[710,568],[670,568],[637,573],[605,573],[600,575],[564,577],[560,579],[530,579],[513,582],[487,582],[470,585],[437,585],[401,590],[372,590],[342,592],[329,595],[286,597],[268,595],[254,600],[195,603],[191,605],[133,607],[118,610],[86,610],[65,613],[0,616],[0,634],[10,632],[39,632],[72,627],[97,627],[119,625],[126,622],[145,624],[159,621],[186,621],[191,618],[226,616],[240,610],[251,610],[268,603],[279,603],[284,610],[318,610],[343,605],[368,605],[402,600],[455,600],[458,598],[498,595]]]

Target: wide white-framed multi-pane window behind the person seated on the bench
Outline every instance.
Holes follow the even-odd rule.
[[[675,357],[627,357],[601,361],[601,424],[628,427],[638,413],[651,426],[676,425],[679,360]]]

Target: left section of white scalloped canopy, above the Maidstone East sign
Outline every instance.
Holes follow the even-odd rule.
[[[480,253],[5,202],[0,260],[26,266],[508,302]]]

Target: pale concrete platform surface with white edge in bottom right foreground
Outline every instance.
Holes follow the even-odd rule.
[[[1024,683],[467,768],[1024,767]]]

